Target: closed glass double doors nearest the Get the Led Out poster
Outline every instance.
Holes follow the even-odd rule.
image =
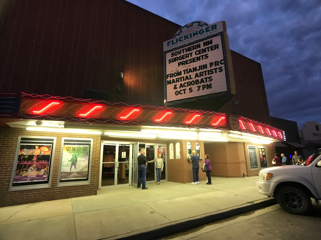
[[[130,142],[102,142],[99,188],[132,184],[132,154]]]

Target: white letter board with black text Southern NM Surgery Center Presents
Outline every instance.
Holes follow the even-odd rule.
[[[221,35],[167,52],[167,101],[227,91]]]

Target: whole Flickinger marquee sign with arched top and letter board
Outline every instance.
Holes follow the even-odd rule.
[[[188,23],[163,43],[167,103],[235,94],[230,48],[224,21]]]

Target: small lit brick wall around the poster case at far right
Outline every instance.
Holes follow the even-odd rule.
[[[250,158],[248,156],[248,150],[247,146],[256,146],[256,157],[257,157],[257,162],[258,162],[258,169],[251,170],[250,168]],[[262,146],[265,147],[265,155],[266,155],[266,161],[267,161],[267,166],[268,167],[273,167],[272,165],[272,159],[275,156],[275,147],[274,143],[270,144],[251,144],[251,143],[244,143],[244,152],[245,152],[245,160],[246,160],[246,169],[247,169],[247,176],[252,177],[252,176],[257,176],[259,171],[261,170],[261,165],[260,165],[260,155],[259,155],[259,150],[257,146]]]

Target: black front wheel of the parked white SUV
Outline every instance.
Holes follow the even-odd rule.
[[[284,186],[278,193],[276,199],[281,207],[291,213],[303,215],[312,208],[311,198],[302,189],[295,186]]]

